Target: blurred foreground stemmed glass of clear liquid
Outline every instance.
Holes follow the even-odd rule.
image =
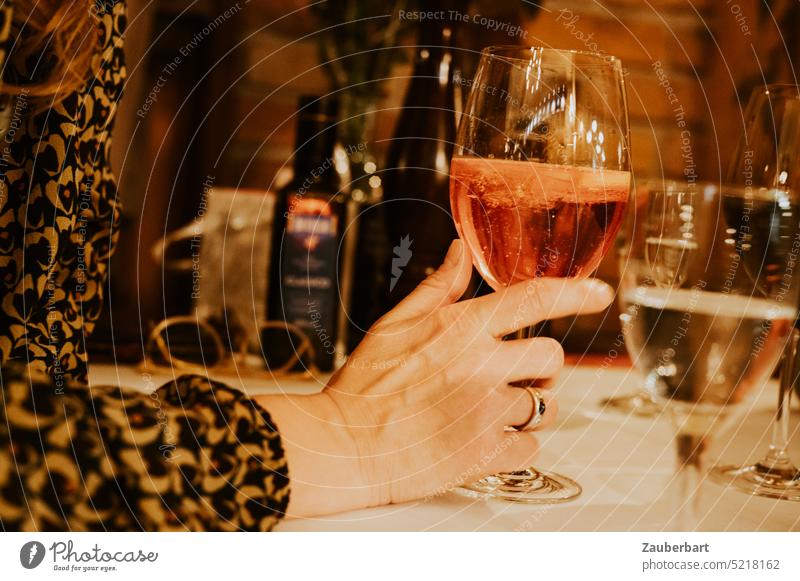
[[[673,422],[670,524],[691,530],[711,436],[769,380],[794,326],[798,207],[782,188],[693,182],[638,189],[631,206],[620,253],[625,342]]]

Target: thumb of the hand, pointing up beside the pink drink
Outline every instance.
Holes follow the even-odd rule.
[[[467,290],[471,275],[472,261],[466,244],[456,238],[438,270],[392,309],[389,316],[410,319],[454,303]]]

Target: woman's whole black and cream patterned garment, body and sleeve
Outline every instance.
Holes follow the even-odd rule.
[[[83,89],[2,111],[0,529],[269,530],[289,479],[257,403],[200,376],[149,395],[86,382],[116,242],[110,134],[125,79],[123,3],[87,4],[99,38]],[[31,74],[7,58],[12,17],[4,0],[2,79],[20,84]]]

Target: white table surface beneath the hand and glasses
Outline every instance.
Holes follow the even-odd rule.
[[[171,377],[153,375],[159,385]],[[220,377],[256,395],[285,391],[314,393],[318,380],[241,380]],[[162,381],[163,380],[163,381]],[[98,365],[94,384],[144,389],[135,367]],[[673,514],[675,456],[670,421],[604,411],[601,401],[627,394],[640,384],[629,367],[566,367],[553,389],[560,412],[554,427],[540,433],[540,468],[561,472],[583,486],[576,500],[555,505],[524,505],[474,498],[460,491],[432,499],[281,523],[282,531],[653,531],[667,530]],[[152,385],[152,383],[150,384]],[[717,435],[709,464],[755,461],[767,449],[777,403],[770,382],[745,404],[744,415]],[[792,414],[790,453],[800,462],[800,425]],[[705,481],[699,499],[698,530],[798,531],[800,502],[765,499]]]

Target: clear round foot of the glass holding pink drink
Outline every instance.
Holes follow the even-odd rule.
[[[571,478],[535,468],[493,474],[464,488],[488,498],[525,504],[568,502],[583,492],[580,484]]]

